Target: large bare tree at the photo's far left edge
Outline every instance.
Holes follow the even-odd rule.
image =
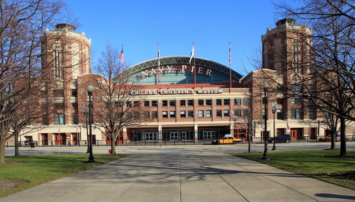
[[[5,143],[12,121],[23,120],[16,108],[38,101],[40,96],[33,93],[34,89],[49,82],[46,74],[50,71],[42,69],[48,49],[40,38],[45,27],[54,27],[61,21],[64,6],[60,0],[0,2],[0,163],[5,162]]]

